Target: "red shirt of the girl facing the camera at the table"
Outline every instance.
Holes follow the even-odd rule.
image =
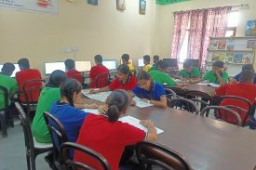
[[[128,80],[125,84],[117,77],[113,82],[108,85],[110,90],[123,89],[123,90],[133,90],[136,86],[136,78],[134,76],[128,76]]]

